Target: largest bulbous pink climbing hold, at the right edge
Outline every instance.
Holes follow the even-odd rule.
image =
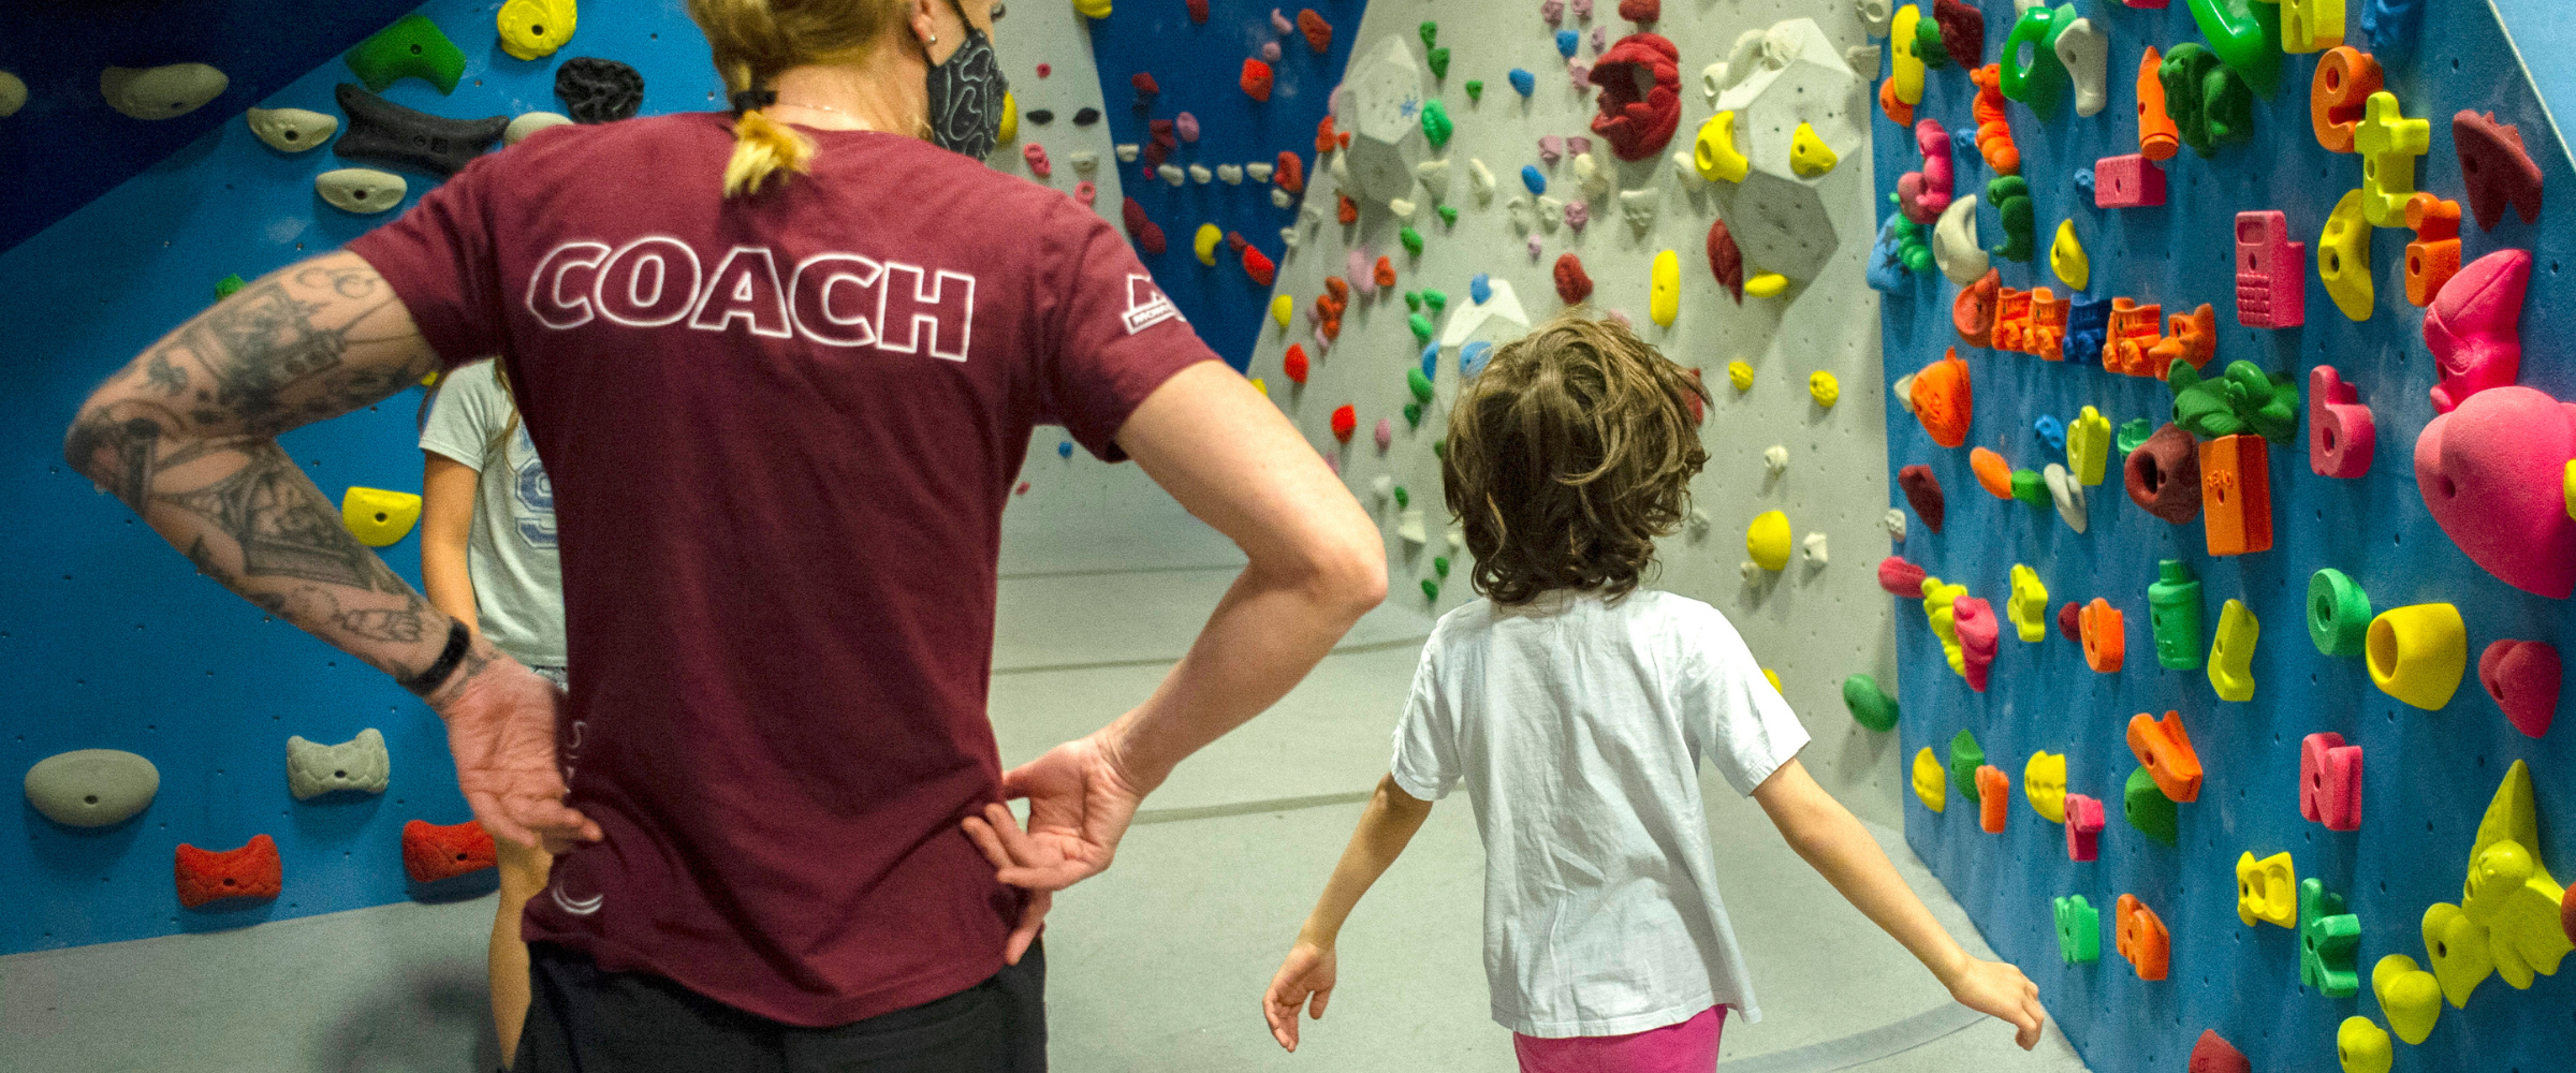
[[[2424,425],[2416,491],[2468,561],[2522,592],[2566,600],[2576,592],[2568,458],[2576,407],[2532,389],[2486,389]]]

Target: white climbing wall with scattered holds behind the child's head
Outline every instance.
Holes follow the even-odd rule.
[[[1059,18],[1061,5],[1012,8],[1012,21],[1023,15]],[[1569,5],[1571,8],[1571,5]],[[1427,149],[1427,160],[1450,160],[1445,201],[1458,206],[1458,224],[1445,226],[1435,216],[1427,190],[1409,190],[1417,211],[1409,219],[1427,239],[1419,257],[1409,257],[1396,239],[1401,221],[1391,219],[1383,203],[1363,203],[1360,221],[1342,226],[1334,221],[1332,167],[1311,165],[1306,203],[1309,224],[1298,224],[1298,247],[1280,260],[1278,293],[1291,296],[1298,311],[1288,329],[1265,322],[1262,340],[1252,355],[1249,376],[1262,378],[1270,396],[1288,412],[1319,450],[1340,458],[1342,476],[1383,525],[1388,548],[1391,592],[1388,610],[1414,610],[1425,620],[1473,600],[1466,584],[1463,553],[1450,553],[1443,538],[1445,512],[1440,507],[1440,463],[1430,445],[1440,435],[1448,401],[1458,391],[1455,350],[1443,353],[1435,381],[1437,399],[1422,427],[1406,427],[1401,407],[1412,401],[1406,368],[1419,363],[1419,345],[1406,329],[1401,291],[1437,288],[1448,293],[1455,314],[1468,304],[1468,278],[1492,273],[1510,280],[1533,322],[1561,309],[1551,280],[1551,268],[1561,252],[1584,260],[1595,280],[1592,306],[1620,309],[1638,332],[1685,365],[1698,365],[1710,383],[1716,407],[1708,414],[1708,471],[1695,484],[1698,509],[1708,515],[1705,535],[1677,535],[1664,546],[1664,566],[1656,587],[1708,600],[1723,610],[1754,656],[1780,674],[1790,702],[1806,718],[1816,744],[1806,751],[1806,764],[1816,777],[1850,803],[1860,816],[1899,823],[1896,795],[1901,787],[1896,741],[1852,723],[1842,708],[1839,684],[1844,674],[1868,672],[1893,692],[1893,630],[1896,607],[1878,584],[1875,564],[1888,553],[1886,533],[1878,527],[1888,507],[1883,399],[1886,383],[1878,373],[1878,293],[1862,286],[1862,260],[1875,234],[1870,198],[1868,142],[1847,152],[1816,193],[1824,201],[1824,219],[1837,232],[1837,244],[1814,280],[1793,283],[1780,298],[1747,296],[1736,306],[1708,270],[1708,226],[1721,211],[1734,211],[1739,190],[1710,188],[1698,178],[1674,175],[1672,152],[1687,152],[1692,134],[1713,113],[1700,93],[1700,69],[1728,57],[1736,36],[1749,28],[1767,28],[1783,18],[1814,18],[1832,41],[1834,57],[1855,44],[1878,44],[1862,31],[1857,10],[1847,3],[1790,3],[1741,0],[1728,5],[1700,5],[1667,0],[1656,33],[1672,39],[1682,51],[1682,121],[1654,160],[1610,162],[1613,190],[1595,198],[1592,221],[1577,234],[1558,224],[1538,229],[1540,257],[1530,257],[1528,239],[1507,219],[1507,198],[1522,193],[1520,167],[1540,165],[1548,172],[1548,196],[1582,198],[1574,160],[1548,167],[1538,157],[1538,136],[1592,136],[1595,93],[1577,93],[1566,75],[1566,59],[1556,51],[1553,28],[1540,18],[1538,0],[1373,0],[1368,15],[1355,28],[1360,39],[1355,57],[1365,57],[1378,41],[1394,36],[1422,59],[1422,21],[1437,21],[1437,44],[1450,49],[1450,72],[1427,90],[1437,95],[1455,136],[1445,149]],[[1005,59],[1018,72],[1036,62],[1023,57],[1038,51],[1036,26],[1018,41],[1005,41]],[[1577,62],[1595,57],[1592,28],[1600,26],[1607,41],[1636,31],[1618,18],[1615,0],[1600,0],[1589,18],[1571,10],[1566,28],[1582,31]],[[1350,26],[1340,28],[1350,33]],[[1048,31],[1051,33],[1051,31]],[[1056,41],[1048,36],[1048,41]],[[1066,80],[1072,59],[1061,46],[1051,90],[1072,90]],[[1538,77],[1535,93],[1522,100],[1507,72],[1530,69]],[[1844,103],[1850,126],[1868,131],[1870,69],[1855,69],[1855,90]],[[1484,100],[1471,103],[1468,80],[1484,80]],[[1025,93],[1025,90],[1023,90]],[[1023,98],[1030,108],[1030,98]],[[1056,131],[1064,136],[1066,105],[1056,105]],[[1819,124],[1824,129],[1824,124]],[[1103,129],[1092,129],[1105,142]],[[1023,129],[1023,142],[1028,139]],[[1832,136],[1832,131],[1826,131]],[[1595,136],[1595,144],[1602,139]],[[1108,144],[1097,147],[1103,154]],[[1311,152],[1311,144],[1301,144]],[[1015,152],[1005,147],[1002,152]],[[1059,160],[1056,183],[1072,188]],[[1497,178],[1492,201],[1479,201],[1468,180],[1468,160],[1484,160]],[[999,154],[997,154],[999,162]],[[1108,170],[1103,170],[1108,175]],[[1651,188],[1656,216],[1641,234],[1623,221],[1618,193]],[[1103,185],[1100,203],[1113,206],[1115,190]],[[1752,211],[1749,206],[1744,208]],[[1731,226],[1741,226],[1734,224]],[[1175,237],[1182,242],[1182,237]],[[1345,314],[1342,337],[1332,347],[1319,347],[1306,316],[1314,296],[1324,291],[1327,275],[1350,268],[1352,247],[1368,247],[1370,262],[1391,255],[1396,262],[1396,288],[1376,298],[1352,296]],[[1682,262],[1682,301],[1672,327],[1649,319],[1646,291],[1649,265],[1659,250],[1674,250]],[[1747,273],[1765,265],[1747,250]],[[1445,316],[1440,316],[1445,324]],[[1303,342],[1311,358],[1306,386],[1288,383],[1283,353],[1291,342]],[[1754,386],[1736,391],[1728,386],[1726,365],[1744,360],[1754,368]],[[1808,373],[1829,371],[1839,378],[1839,401],[1826,409],[1808,396]],[[1360,414],[1358,435],[1347,448],[1332,440],[1329,417],[1334,407],[1352,404]],[[1394,422],[1394,445],[1381,453],[1370,437],[1378,419]],[[1030,445],[1030,491],[1012,504],[1005,520],[1005,574],[1015,571],[1069,571],[1133,564],[1203,566],[1236,558],[1211,530],[1188,520],[1162,497],[1133,466],[1100,466],[1084,453],[1072,461],[1056,458],[1061,432],[1046,430]],[[1788,468],[1770,476],[1762,461],[1765,448],[1788,448]],[[1412,504],[1425,512],[1432,535],[1427,548],[1412,548],[1399,538],[1399,509],[1378,499],[1370,486],[1378,476],[1391,476],[1412,494]],[[1793,556],[1788,571],[1739,576],[1744,553],[1744,527],[1765,509],[1788,512],[1795,540],[1803,546],[1811,533],[1826,535],[1829,564],[1808,566],[1803,553]],[[1450,553],[1455,569],[1443,584],[1437,605],[1427,602],[1419,582],[1435,576],[1432,556]],[[1396,713],[1388,713],[1388,720]]]

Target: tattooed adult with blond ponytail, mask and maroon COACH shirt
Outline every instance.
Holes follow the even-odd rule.
[[[477,160],[178,327],[64,453],[422,695],[474,816],[554,852],[515,1068],[1041,1070],[1051,893],[1383,597],[1381,538],[1113,226],[981,165],[992,0],[688,10],[729,111]],[[276,445],[484,355],[551,476],[569,695]],[[1036,425],[1133,458],[1249,566],[1151,697],[1002,772],[999,525]]]

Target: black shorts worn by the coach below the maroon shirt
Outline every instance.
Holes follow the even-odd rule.
[[[832,1029],[770,1022],[649,973],[528,944],[513,1073],[1046,1073],[1046,952],[912,1009]]]

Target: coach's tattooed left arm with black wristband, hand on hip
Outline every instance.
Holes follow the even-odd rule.
[[[492,834],[598,836],[562,805],[551,687],[484,641],[440,659],[453,620],[358,543],[278,448],[278,432],[435,368],[384,278],[335,252],[242,288],[126,363],[80,409],[62,453],[201,574],[438,708],[459,785]],[[425,674],[440,664],[453,669]]]

